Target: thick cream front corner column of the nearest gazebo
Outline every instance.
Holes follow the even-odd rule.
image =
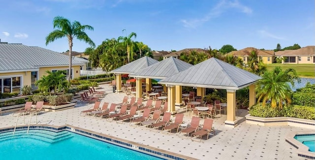
[[[226,101],[227,101],[227,115],[225,126],[234,128],[237,126],[237,120],[235,118],[235,96],[236,90],[226,90]]]

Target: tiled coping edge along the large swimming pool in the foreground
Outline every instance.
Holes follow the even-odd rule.
[[[26,130],[28,128],[28,125],[21,125],[16,127],[16,131],[18,130]],[[69,131],[72,133],[78,133],[81,135],[85,135],[97,140],[101,140],[104,142],[108,142],[114,145],[118,145],[124,148],[128,148],[134,151],[138,151],[144,154],[152,155],[158,158],[166,159],[166,160],[198,160],[192,157],[180,155],[177,153],[165,151],[159,148],[151,147],[148,145],[140,144],[137,142],[129,141],[126,139],[114,137],[111,135],[107,135],[104,133],[97,133],[91,130],[86,130],[83,128],[79,128],[72,125],[62,125],[62,126],[54,126],[54,125],[32,125],[30,126],[30,130],[33,129],[41,129],[41,130],[49,130],[53,132],[60,132],[60,131]],[[13,131],[14,127],[5,127],[0,128],[0,133],[2,132],[9,132]]]

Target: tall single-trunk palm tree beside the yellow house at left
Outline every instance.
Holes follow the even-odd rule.
[[[68,81],[71,80],[71,68],[72,68],[72,47],[73,47],[73,39],[77,38],[80,41],[84,41],[88,43],[92,47],[95,47],[94,42],[85,32],[86,29],[94,30],[93,27],[89,25],[81,25],[80,22],[74,21],[71,23],[68,19],[63,18],[62,16],[57,16],[53,20],[54,29],[56,30],[50,32],[46,37],[46,46],[50,42],[54,42],[57,39],[67,37],[69,44],[69,77]]]

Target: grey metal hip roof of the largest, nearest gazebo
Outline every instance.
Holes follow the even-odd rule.
[[[217,58],[210,58],[158,83],[238,90],[261,79]]]

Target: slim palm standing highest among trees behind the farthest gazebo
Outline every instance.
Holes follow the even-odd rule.
[[[123,32],[124,31],[126,31],[126,29],[124,29]],[[126,46],[128,63],[133,59],[134,42],[131,40],[132,37],[137,38],[137,34],[135,32],[131,32],[128,36],[120,36],[117,39],[118,42],[122,42]]]

